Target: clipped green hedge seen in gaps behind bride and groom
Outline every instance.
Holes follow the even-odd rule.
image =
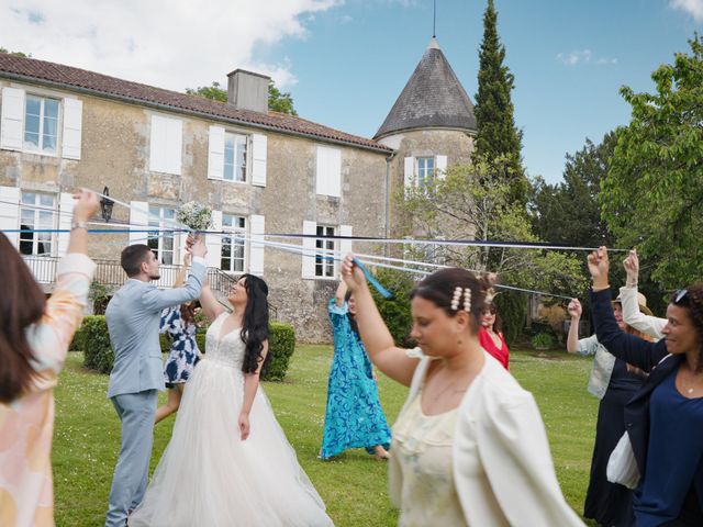
[[[83,345],[83,366],[101,373],[110,373],[114,362],[114,354],[110,346],[108,324],[103,315],[86,316],[77,332],[78,338]],[[207,352],[205,334],[196,335],[200,351]],[[161,351],[167,354],[171,348],[170,339],[166,335],[159,335]],[[71,346],[74,346],[71,344]],[[79,348],[76,348],[79,349]],[[271,359],[267,370],[261,375],[265,381],[282,381],[288,372],[288,363],[295,350],[295,330],[288,324],[271,323],[269,335],[269,354]]]

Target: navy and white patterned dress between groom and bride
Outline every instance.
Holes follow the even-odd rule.
[[[171,350],[164,365],[166,384],[186,382],[198,362],[198,343],[196,324],[186,324],[180,315],[180,306],[169,307],[161,312],[160,332],[171,338]]]

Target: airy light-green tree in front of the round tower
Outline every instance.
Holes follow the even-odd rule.
[[[397,197],[405,234],[427,238],[539,242],[524,208],[494,170],[510,172],[510,159],[473,160],[455,166],[444,177],[405,189]],[[498,168],[495,168],[498,166]],[[501,282],[546,292],[573,294],[585,285],[580,261],[540,249],[507,247],[415,246],[417,259],[498,272]]]

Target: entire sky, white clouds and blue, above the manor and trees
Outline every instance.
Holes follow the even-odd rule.
[[[436,0],[436,36],[473,101],[487,0]],[[529,176],[629,122],[622,86],[690,51],[703,0],[494,0]],[[433,0],[0,0],[0,47],[183,91],[271,76],[299,115],[372,137],[422,58]]]

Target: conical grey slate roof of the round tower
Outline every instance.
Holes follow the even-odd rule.
[[[373,138],[426,127],[476,132],[473,104],[435,37]]]

